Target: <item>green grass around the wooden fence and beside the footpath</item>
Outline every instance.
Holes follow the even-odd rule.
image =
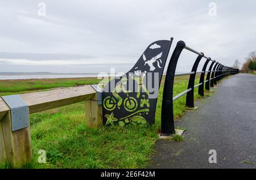
[[[37,91],[52,87],[95,84],[97,79],[2,81],[0,95]],[[196,84],[199,78],[196,78]],[[174,96],[187,89],[188,76],[175,78]],[[112,126],[93,129],[85,125],[84,103],[32,114],[33,160],[23,168],[146,168],[160,131],[163,81],[159,91],[155,124]],[[195,89],[195,99],[197,88]],[[174,102],[175,119],[185,111],[185,96]],[[180,137],[175,138],[180,141]],[[47,153],[47,163],[38,163],[38,151]],[[0,168],[9,168],[8,164]]]

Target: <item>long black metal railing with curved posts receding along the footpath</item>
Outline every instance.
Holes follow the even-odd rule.
[[[177,61],[179,60],[180,54],[181,52],[183,52],[184,49],[189,50],[190,52],[195,53],[198,56],[192,67],[191,72],[175,74]],[[202,71],[197,72],[199,63],[203,58],[206,59],[203,69]],[[212,62],[212,63],[210,64],[209,69],[207,71],[209,62]],[[162,101],[162,118],[161,118],[162,135],[169,136],[175,133],[174,104],[173,104],[175,100],[187,94],[186,106],[188,108],[194,108],[195,107],[194,93],[195,93],[196,87],[199,87],[198,89],[199,95],[204,96],[204,88],[207,91],[209,91],[210,87],[214,87],[214,84],[217,84],[217,82],[219,82],[221,79],[229,75],[237,74],[238,72],[239,70],[235,68],[224,66],[221,63],[216,62],[209,57],[206,57],[204,53],[199,53],[196,50],[189,48],[187,45],[185,45],[184,41],[177,42],[177,45],[174,49],[174,52],[172,53],[170,63],[167,68],[166,80],[164,82],[163,101]],[[205,80],[206,73],[207,73],[207,78]],[[199,84],[195,85],[196,74],[201,74],[201,75],[200,75]],[[174,78],[175,76],[182,76],[182,75],[190,75],[189,81],[188,81],[188,88],[186,91],[181,92],[179,95],[173,97]]]

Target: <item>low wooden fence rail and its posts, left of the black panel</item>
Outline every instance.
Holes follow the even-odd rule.
[[[20,96],[28,105],[30,114],[85,101],[86,125],[93,128],[102,125],[102,107],[97,105],[97,92],[91,85],[26,93]],[[19,168],[31,159],[30,127],[12,131],[10,108],[0,97],[0,163],[9,162],[12,168]]]

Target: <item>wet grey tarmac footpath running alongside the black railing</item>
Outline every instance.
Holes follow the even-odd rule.
[[[148,168],[256,168],[256,76],[231,76],[214,92],[175,122],[187,130],[184,142],[156,142]],[[208,162],[210,149],[217,164]]]

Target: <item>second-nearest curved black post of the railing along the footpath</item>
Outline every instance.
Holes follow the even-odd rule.
[[[195,86],[196,71],[201,59],[204,57],[204,53],[201,53],[201,54],[202,55],[198,55],[198,57],[196,58],[196,61],[191,70],[191,72],[195,72],[195,73],[190,75],[189,82],[188,82],[187,89],[190,89],[190,88],[192,89],[187,93],[187,98],[186,98],[186,106],[189,108],[194,108],[194,86]]]

